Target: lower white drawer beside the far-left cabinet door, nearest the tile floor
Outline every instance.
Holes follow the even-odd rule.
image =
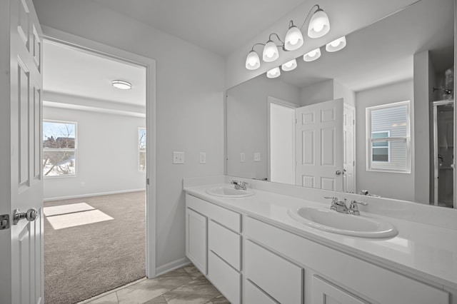
[[[241,274],[211,250],[208,259],[208,278],[230,303],[241,303]]]

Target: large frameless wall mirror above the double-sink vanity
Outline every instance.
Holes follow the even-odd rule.
[[[226,174],[453,208],[454,1],[346,41],[227,91]]]

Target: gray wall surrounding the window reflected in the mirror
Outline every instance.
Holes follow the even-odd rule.
[[[366,108],[398,101],[411,101],[411,173],[366,171]],[[386,198],[414,201],[413,81],[401,81],[356,93],[356,189]]]

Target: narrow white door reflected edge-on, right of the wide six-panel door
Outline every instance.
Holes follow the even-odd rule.
[[[356,109],[343,108],[343,191],[356,192]]]

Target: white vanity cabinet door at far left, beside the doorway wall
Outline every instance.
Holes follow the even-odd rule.
[[[186,208],[186,256],[204,275],[207,274],[207,225],[206,216]]]

